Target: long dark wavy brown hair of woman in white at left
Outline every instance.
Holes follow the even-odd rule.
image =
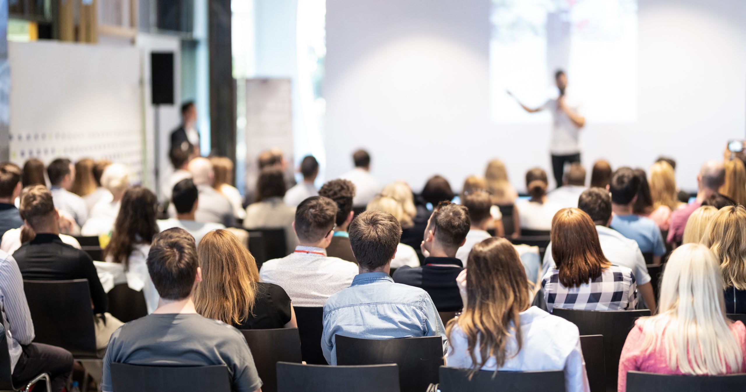
[[[111,240],[104,249],[104,258],[111,256],[114,263],[122,263],[127,271],[134,245],[149,244],[158,234],[155,220],[157,203],[155,194],[146,187],[135,186],[125,190]]]

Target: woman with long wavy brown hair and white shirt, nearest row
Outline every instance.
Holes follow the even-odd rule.
[[[471,374],[564,370],[565,391],[589,391],[577,327],[530,306],[526,273],[509,241],[492,237],[474,245],[468,273],[457,281],[464,309],[446,328],[448,366]]]

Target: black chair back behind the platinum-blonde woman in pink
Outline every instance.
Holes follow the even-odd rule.
[[[627,372],[627,392],[746,391],[746,374],[679,376]]]

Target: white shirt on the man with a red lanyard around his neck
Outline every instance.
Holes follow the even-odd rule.
[[[348,288],[357,272],[357,264],[328,257],[324,248],[299,245],[292,254],[262,264],[259,277],[285,289],[293,306],[322,307]]]

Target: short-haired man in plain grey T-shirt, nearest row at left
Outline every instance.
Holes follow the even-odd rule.
[[[225,365],[231,390],[261,391],[254,358],[239,330],[204,318],[194,307],[202,280],[194,238],[184,229],[157,234],[148,253],[148,271],[160,295],[151,315],[131,321],[111,335],[104,356],[101,390],[111,392],[111,364],[153,366]]]

